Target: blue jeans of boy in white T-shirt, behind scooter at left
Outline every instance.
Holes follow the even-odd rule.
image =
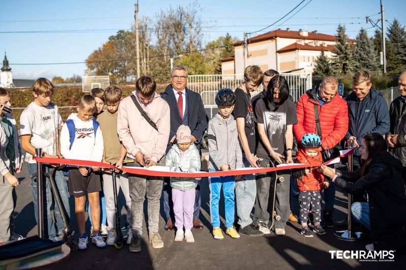
[[[32,174],[37,172],[37,165],[35,163],[28,163],[28,173],[30,174],[30,177]],[[43,167],[44,172],[49,172],[51,168],[49,166],[44,166]],[[71,210],[69,207],[69,193],[67,191],[67,185],[65,181],[65,176],[63,175],[63,171],[57,170],[55,172],[55,184],[56,187],[58,188],[58,192],[63,204],[63,207],[65,208],[65,215],[66,219],[69,220],[70,215],[71,215]],[[35,214],[35,220],[37,221],[38,224],[38,206],[37,206],[37,182],[36,182],[37,177],[31,177],[31,186],[32,186],[32,202],[34,203],[34,214]],[[54,204],[53,199],[52,199],[52,190],[51,190],[51,185],[49,184],[49,179],[46,178],[46,201],[44,202],[44,205],[46,205],[47,208],[47,223],[44,224],[47,226],[48,229],[48,237],[50,239],[54,238],[56,234],[63,232],[63,224],[62,224],[62,218],[60,215],[59,208],[56,204]],[[55,233],[55,224],[52,219],[51,211],[54,210],[54,215],[55,215],[55,220],[56,220],[56,227],[57,231]]]

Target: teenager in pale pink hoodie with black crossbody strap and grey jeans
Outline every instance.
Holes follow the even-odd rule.
[[[165,166],[165,149],[170,134],[169,106],[155,93],[156,83],[150,76],[141,76],[136,82],[136,91],[124,98],[118,108],[117,133],[127,150],[127,157],[135,159],[128,163],[132,167]],[[150,118],[141,114],[137,105]],[[148,180],[148,181],[147,181]],[[131,197],[132,239],[131,252],[141,251],[143,205],[148,199],[148,232],[153,248],[162,248],[158,233],[159,199],[162,193],[163,177],[129,175]]]

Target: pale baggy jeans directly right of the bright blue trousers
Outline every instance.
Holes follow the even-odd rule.
[[[243,153],[243,163],[245,168],[250,168],[245,153]],[[244,228],[252,223],[250,216],[257,196],[257,185],[255,174],[245,174],[239,180],[235,180],[235,204],[237,208],[238,224]]]

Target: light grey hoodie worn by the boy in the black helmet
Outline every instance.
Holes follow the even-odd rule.
[[[237,123],[232,114],[223,119],[215,114],[207,130],[209,142],[209,169],[220,171],[221,165],[231,170],[243,167],[243,154],[238,140]]]

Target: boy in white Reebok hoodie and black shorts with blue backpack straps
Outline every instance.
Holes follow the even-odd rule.
[[[84,95],[76,106],[78,113],[72,113],[62,127],[60,151],[65,159],[101,162],[103,159],[103,135],[92,114],[96,111],[96,101],[91,95]],[[101,190],[100,178],[94,172],[99,168],[79,166],[69,168],[69,194],[75,196],[75,213],[79,228],[79,250],[87,249],[85,232],[85,193],[89,198],[93,220],[100,218],[98,193]],[[106,243],[99,233],[99,223],[93,222],[92,243],[97,248],[105,248]]]

